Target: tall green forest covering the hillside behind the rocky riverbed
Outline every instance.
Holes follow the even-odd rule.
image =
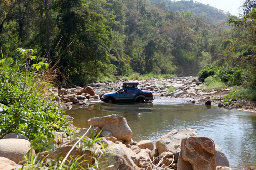
[[[40,59],[33,63],[47,62],[80,86],[134,72],[196,75],[227,43],[227,15],[193,1],[0,2],[3,56],[37,49]]]

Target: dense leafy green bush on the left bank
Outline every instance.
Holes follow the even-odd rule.
[[[63,110],[53,103],[52,96],[44,96],[42,80],[47,63],[39,68],[31,65],[35,59],[32,49],[17,49],[20,56],[0,60],[0,135],[17,132],[30,140],[38,136],[53,137],[52,131],[66,131],[68,123],[61,118]],[[42,67],[41,67],[42,66]]]

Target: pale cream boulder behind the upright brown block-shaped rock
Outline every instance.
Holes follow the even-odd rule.
[[[176,156],[176,153],[180,151],[181,139],[190,136],[198,135],[193,129],[172,130],[156,141],[156,149],[158,149],[159,154],[165,151],[170,151]]]

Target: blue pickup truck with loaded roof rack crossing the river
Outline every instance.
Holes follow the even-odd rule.
[[[141,90],[138,85],[138,82],[124,82],[122,88],[115,92],[103,93],[100,99],[106,103],[145,102],[155,99],[151,91]]]

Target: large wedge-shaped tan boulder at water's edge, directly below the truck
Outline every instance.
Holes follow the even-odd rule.
[[[88,124],[98,126],[101,129],[104,128],[104,130],[111,132],[114,137],[123,141],[131,141],[133,135],[126,118],[116,114],[91,118],[88,120]]]

